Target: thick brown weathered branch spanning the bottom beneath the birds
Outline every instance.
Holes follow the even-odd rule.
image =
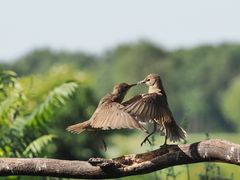
[[[146,174],[170,166],[197,162],[240,165],[240,145],[212,139],[113,159],[70,161],[47,158],[0,158],[0,176],[33,175],[71,178],[117,178]]]

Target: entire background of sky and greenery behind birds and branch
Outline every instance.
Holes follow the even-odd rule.
[[[101,132],[106,152],[92,132],[65,131],[89,119],[114,84],[152,72],[162,77],[187,143],[240,143],[239,1],[0,4],[0,157],[87,160],[158,148],[163,137],[140,147],[145,135],[137,130]],[[145,91],[133,88],[127,98]],[[126,179],[234,179],[239,173],[234,165],[202,163]]]

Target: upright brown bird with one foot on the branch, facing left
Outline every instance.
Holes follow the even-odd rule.
[[[148,93],[134,96],[123,103],[125,106],[123,109],[136,116],[139,121],[154,123],[153,132],[143,140],[141,145],[146,141],[150,142],[148,138],[157,130],[165,134],[164,145],[167,144],[167,139],[173,142],[185,139],[187,133],[174,120],[160,76],[149,74],[144,80],[138,82],[138,84],[143,83],[149,86]]]

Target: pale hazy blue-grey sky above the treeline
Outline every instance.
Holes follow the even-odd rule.
[[[240,1],[0,0],[0,60],[40,47],[101,53],[138,39],[166,48],[240,42]]]

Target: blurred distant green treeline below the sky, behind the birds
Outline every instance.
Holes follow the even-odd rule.
[[[240,44],[168,51],[139,41],[102,55],[39,49],[2,68],[28,76],[47,73],[57,64],[68,64],[89,74],[97,98],[115,83],[137,82],[148,73],[158,73],[177,121],[188,131],[240,130]],[[130,95],[144,90],[143,86],[135,88]]]

